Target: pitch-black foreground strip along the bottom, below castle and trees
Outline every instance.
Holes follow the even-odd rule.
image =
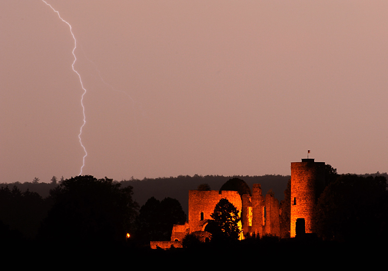
[[[3,240],[4,241],[4,240]],[[234,268],[318,268],[356,267],[367,264],[368,269],[380,266],[386,260],[387,242],[363,240],[347,243],[263,238],[228,244],[201,243],[190,248],[169,250],[140,247],[134,243],[67,243],[58,239],[50,243],[13,241],[2,242],[4,258],[22,259],[21,263],[53,263],[61,266],[110,268],[155,268],[171,266]],[[4,250],[5,249],[5,250]],[[19,264],[19,263],[18,263]]]

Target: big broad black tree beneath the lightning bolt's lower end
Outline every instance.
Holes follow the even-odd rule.
[[[138,205],[132,187],[112,179],[84,175],[66,179],[51,190],[54,205],[41,228],[44,240],[97,244],[125,241]]]

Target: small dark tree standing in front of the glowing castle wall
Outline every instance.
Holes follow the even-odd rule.
[[[212,220],[206,230],[212,235],[212,241],[235,241],[240,237],[239,211],[226,198],[220,201],[214,207],[210,215]]]

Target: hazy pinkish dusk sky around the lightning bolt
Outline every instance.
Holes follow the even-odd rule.
[[[388,171],[388,1],[47,0],[77,40],[82,175]],[[0,182],[80,174],[69,26],[0,1]]]

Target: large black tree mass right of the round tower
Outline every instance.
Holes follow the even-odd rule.
[[[323,191],[315,217],[315,232],[327,240],[387,238],[387,179],[340,175]]]

